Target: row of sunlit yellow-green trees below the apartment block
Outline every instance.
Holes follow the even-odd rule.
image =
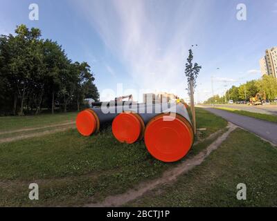
[[[229,100],[234,102],[249,102],[251,97],[257,93],[265,93],[267,99],[275,100],[277,98],[277,79],[270,75],[264,75],[261,79],[247,81],[240,86],[232,86],[223,96],[215,95],[210,97],[205,104],[224,104]]]

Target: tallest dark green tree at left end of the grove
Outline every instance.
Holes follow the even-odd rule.
[[[8,81],[6,91],[10,90],[13,95],[12,113],[16,113],[17,102],[20,99],[19,115],[23,115],[31,75],[39,69],[37,60],[40,59],[40,55],[37,47],[41,33],[39,29],[29,30],[25,25],[17,26],[15,33],[15,37],[1,37],[1,57],[5,60],[1,69]]]

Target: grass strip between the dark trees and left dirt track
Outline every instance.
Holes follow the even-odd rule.
[[[26,117],[0,117],[0,133],[25,128],[42,127],[74,120],[77,113],[47,114]]]

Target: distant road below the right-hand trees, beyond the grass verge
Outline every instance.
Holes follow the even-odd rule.
[[[277,105],[249,106],[244,104],[218,104],[217,107],[235,108],[253,113],[265,113],[267,115],[277,115]]]

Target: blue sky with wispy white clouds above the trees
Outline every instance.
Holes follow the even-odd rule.
[[[30,21],[30,3],[39,21]],[[247,21],[238,21],[238,3]],[[62,44],[73,61],[87,61],[102,100],[143,92],[186,95],[184,64],[192,44],[202,65],[197,99],[261,77],[259,59],[277,46],[275,0],[0,0],[0,34],[20,23]],[[217,70],[220,68],[220,70]]]

